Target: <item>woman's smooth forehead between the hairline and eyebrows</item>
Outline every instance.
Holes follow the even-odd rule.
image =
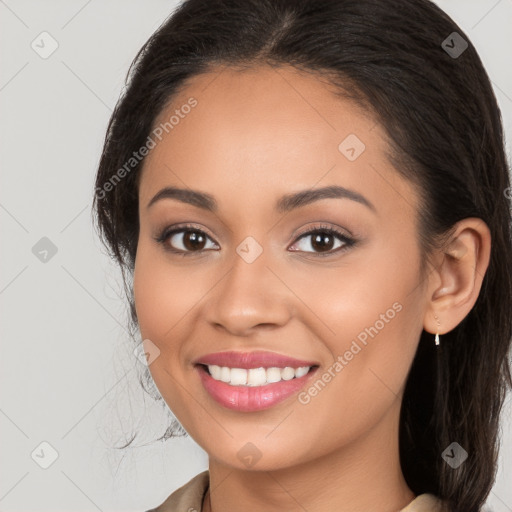
[[[154,127],[165,123],[144,163],[141,204],[168,185],[207,191],[221,208],[234,196],[240,206],[273,207],[276,197],[316,184],[365,191],[376,202],[412,193],[387,161],[381,126],[320,75],[218,68],[187,82]]]

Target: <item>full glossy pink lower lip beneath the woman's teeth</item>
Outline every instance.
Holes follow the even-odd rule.
[[[264,386],[231,386],[215,380],[204,366],[197,370],[204,388],[220,405],[240,412],[261,411],[277,405],[288,397],[298,393],[311,379],[317,368],[311,369],[302,377],[281,380]]]

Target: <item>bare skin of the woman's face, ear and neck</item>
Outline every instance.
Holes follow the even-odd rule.
[[[160,350],[150,364],[153,379],[209,455],[204,510],[405,507],[415,497],[398,452],[407,374],[422,329],[435,334],[439,327],[442,343],[473,307],[489,261],[487,226],[461,221],[422,278],[418,195],[386,160],[385,132],[375,120],[319,77],[257,67],[194,77],[157,122],[191,96],[197,106],[145,161],[134,294],[142,337]],[[349,134],[366,146],[354,161],[338,149]],[[376,211],[346,198],[274,210],[284,194],[327,185],[357,191]],[[148,208],[166,186],[207,192],[219,209],[176,199]],[[182,257],[155,241],[182,222],[209,237],[202,252]],[[336,241],[322,257],[312,236],[297,236],[319,224],[358,243],[335,252],[343,244]],[[182,235],[167,245],[186,250]],[[263,249],[250,264],[236,252],[248,236]],[[263,411],[226,409],[203,389],[193,365],[212,352],[269,350],[318,361],[321,376],[393,303],[400,312],[307,404],[295,395]],[[252,467],[238,457],[248,442],[261,454]]]

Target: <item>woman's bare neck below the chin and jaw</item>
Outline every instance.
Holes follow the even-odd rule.
[[[353,443],[298,466],[254,471],[210,458],[204,512],[401,510],[415,495],[400,468],[398,412]]]

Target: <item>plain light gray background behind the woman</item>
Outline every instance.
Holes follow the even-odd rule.
[[[512,0],[438,4],[488,70],[510,159]],[[128,66],[176,5],[0,0],[3,512],[146,510],[207,468],[190,438],[150,444],[167,412],[137,382],[119,274],[90,216],[107,121]],[[58,43],[46,59],[31,47],[43,31]],[[42,237],[57,248],[46,263],[32,252]],[[509,397],[488,501],[495,512],[512,511],[511,414]],[[110,448],[133,429],[141,433],[134,448]],[[58,453],[48,469],[35,462],[51,460],[42,442]]]

